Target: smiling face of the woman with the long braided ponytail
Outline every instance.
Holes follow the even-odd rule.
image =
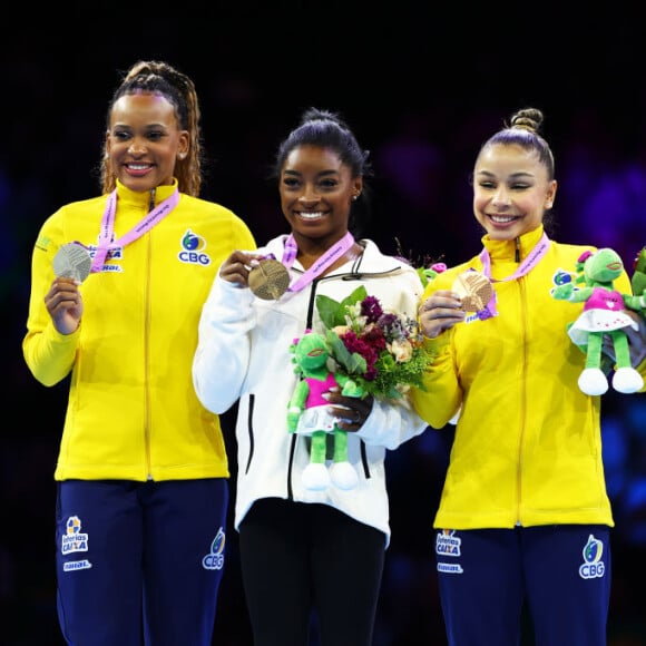
[[[173,104],[153,92],[120,97],[106,137],[112,173],[137,192],[173,184],[175,163],[188,151],[188,133],[179,129]]]

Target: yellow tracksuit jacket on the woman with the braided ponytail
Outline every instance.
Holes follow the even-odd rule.
[[[176,186],[158,187],[156,204]],[[149,209],[148,193],[117,190],[115,239]],[[199,403],[192,364],[219,264],[234,248],[255,248],[254,238],[227,208],[182,194],[173,212],[87,277],[79,329],[59,334],[43,302],[52,258],[75,241],[96,248],[106,204],[102,195],[61,207],[32,254],[25,359],[48,386],[71,372],[55,478],[228,477],[219,420]]]

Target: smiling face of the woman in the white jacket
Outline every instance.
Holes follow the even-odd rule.
[[[297,146],[281,169],[281,208],[297,241],[316,238],[332,245],[348,233],[352,198],[361,177],[329,148]],[[298,242],[298,245],[301,244]]]

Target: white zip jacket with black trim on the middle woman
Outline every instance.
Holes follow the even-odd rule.
[[[254,253],[273,253],[280,260],[286,237]],[[224,413],[239,400],[236,529],[255,500],[272,497],[330,505],[383,531],[386,546],[390,541],[385,450],[427,428],[408,400],[375,401],[361,430],[348,433],[349,459],[359,472],[359,484],[348,491],[333,484],[325,491],[303,488],[301,474],[310,462],[305,437],[286,427],[287,403],[298,380],[290,344],[306,329],[321,331],[317,294],[341,301],[363,284],[384,310],[417,319],[423,287],[415,270],[383,255],[371,241],[360,244],[365,251],[359,258],[277,301],[257,298],[219,275],[214,281],[202,312],[193,380],[197,397],[213,412]],[[290,274],[293,278],[303,271],[296,261]]]

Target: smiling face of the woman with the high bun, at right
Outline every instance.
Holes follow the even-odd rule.
[[[536,153],[493,144],[476,161],[473,214],[491,239],[515,239],[540,226],[556,187]]]

